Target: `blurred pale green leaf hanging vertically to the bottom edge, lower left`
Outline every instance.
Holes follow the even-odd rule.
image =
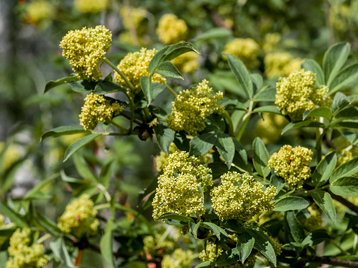
[[[116,224],[111,218],[104,229],[104,234],[99,242],[99,248],[101,250],[101,255],[103,259],[110,265],[110,267],[115,268],[113,261],[113,230],[116,229]]]

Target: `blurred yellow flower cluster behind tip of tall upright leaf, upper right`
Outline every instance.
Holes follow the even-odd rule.
[[[259,48],[259,44],[254,39],[235,38],[226,44],[223,53],[237,56],[248,69],[252,69],[259,64],[257,59]]]

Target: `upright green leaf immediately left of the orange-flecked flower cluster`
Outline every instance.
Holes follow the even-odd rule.
[[[269,160],[269,154],[266,149],[264,142],[256,137],[254,142],[252,142],[252,160],[254,161],[254,167],[256,171],[263,177],[266,177],[271,169],[267,166]]]

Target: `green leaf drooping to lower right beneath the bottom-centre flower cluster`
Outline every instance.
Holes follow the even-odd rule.
[[[255,238],[255,248],[276,267],[276,254],[272,248],[270,238],[258,227],[248,226],[246,230]]]

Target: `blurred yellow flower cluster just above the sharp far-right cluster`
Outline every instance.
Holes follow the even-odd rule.
[[[288,76],[301,69],[303,59],[294,58],[287,52],[268,53],[264,58],[265,75],[267,78]]]

